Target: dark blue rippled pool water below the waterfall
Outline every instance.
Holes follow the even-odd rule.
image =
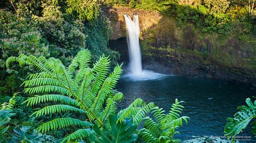
[[[117,89],[125,95],[120,108],[125,108],[134,98],[154,102],[165,111],[169,111],[176,98],[185,101],[182,115],[190,117],[190,120],[180,128],[181,135],[175,135],[181,140],[191,139],[193,135],[224,135],[226,118],[233,117],[237,107],[245,104],[246,98],[256,95],[256,89],[248,85],[180,76],[147,81],[123,77]],[[256,141],[250,128],[239,135],[251,136],[251,141]]]

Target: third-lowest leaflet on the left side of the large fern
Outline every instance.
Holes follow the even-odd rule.
[[[78,112],[78,113],[84,113],[86,114],[87,112],[82,110],[82,109],[78,109],[75,108],[74,106],[70,106],[70,105],[64,105],[64,104],[57,104],[57,105],[50,105],[50,106],[45,106],[44,108],[33,112],[32,115],[30,115],[30,117],[35,116],[35,117],[40,117],[43,115],[49,115],[50,113],[60,113],[60,112]]]

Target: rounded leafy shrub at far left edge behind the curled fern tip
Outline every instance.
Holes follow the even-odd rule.
[[[0,10],[0,74],[1,94],[11,95],[18,91],[24,71],[6,70],[5,60],[9,56],[33,54],[48,56],[48,42],[43,38],[40,28],[28,17],[14,15]],[[19,73],[17,73],[17,71]]]

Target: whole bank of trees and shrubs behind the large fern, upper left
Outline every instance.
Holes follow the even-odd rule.
[[[50,55],[66,65],[78,51],[88,48],[93,61],[105,54],[113,59],[112,66],[116,65],[119,53],[107,45],[111,28],[106,17],[98,17],[97,1],[10,2],[9,9],[0,10],[1,94],[19,91],[18,84],[33,71],[31,68],[6,70],[4,62],[9,56]]]

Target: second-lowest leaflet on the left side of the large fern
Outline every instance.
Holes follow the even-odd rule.
[[[37,130],[38,132],[48,132],[50,130],[57,130],[69,126],[83,126],[83,127],[88,127],[92,126],[91,123],[88,121],[82,121],[79,119],[75,118],[57,118],[53,119],[51,121],[48,121],[46,123],[41,124]]]

